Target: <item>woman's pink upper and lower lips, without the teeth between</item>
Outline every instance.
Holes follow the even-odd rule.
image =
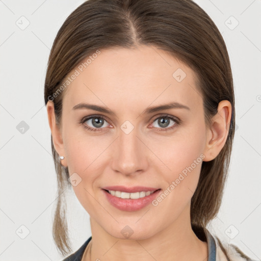
[[[138,188],[138,190],[137,190]],[[134,192],[138,192],[140,191],[154,191],[156,189],[154,188],[144,188],[141,189],[142,187],[136,187],[134,188],[128,188],[128,191],[134,191]],[[121,192],[127,192],[126,188],[124,191],[124,188],[119,188],[119,187],[106,187],[106,189],[108,190],[115,190],[115,191],[121,191]],[[150,194],[149,196],[145,196],[143,198],[138,198],[138,199],[131,199],[131,198],[119,198],[116,196],[111,195],[108,191],[106,191],[105,189],[101,190],[107,200],[111,203],[111,205],[113,205],[114,207],[118,208],[118,210],[121,211],[139,211],[141,210],[143,207],[147,206],[148,204],[151,203],[152,200],[154,200],[156,197],[159,196],[159,194],[161,193],[161,190],[156,190],[154,193]],[[128,192],[128,193],[132,193],[132,192]]]

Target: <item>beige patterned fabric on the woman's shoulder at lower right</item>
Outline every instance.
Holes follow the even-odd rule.
[[[245,253],[243,253],[237,246],[221,242],[221,240],[214,236],[216,243],[216,261],[254,261]]]

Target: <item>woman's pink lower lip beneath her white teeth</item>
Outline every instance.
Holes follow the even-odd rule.
[[[116,196],[111,195],[106,190],[103,190],[109,202],[118,208],[118,210],[123,211],[138,211],[141,210],[143,207],[148,205],[152,200],[154,200],[161,192],[161,190],[157,190],[154,193],[150,194],[149,196],[145,196],[143,198],[132,199],[132,198],[119,198]]]

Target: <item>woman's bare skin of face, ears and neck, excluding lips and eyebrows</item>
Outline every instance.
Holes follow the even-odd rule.
[[[177,68],[187,74],[181,82],[172,76]],[[192,69],[161,49],[111,48],[101,50],[63,93],[60,129],[55,121],[54,104],[48,101],[55,149],[65,157],[61,162],[68,166],[70,175],[76,172],[82,178],[72,188],[90,215],[91,260],[117,261],[123,256],[126,261],[207,259],[207,244],[196,237],[190,222],[190,203],[202,161],[157,206],[149,204],[139,211],[120,211],[101,191],[102,187],[113,185],[164,191],[200,154],[205,156],[203,161],[216,158],[227,139],[231,104],[221,101],[213,124],[207,128],[195,79]],[[190,110],[143,113],[148,107],[171,101]],[[107,106],[115,114],[72,110],[81,102]],[[87,124],[98,128],[91,120],[79,123],[84,117],[97,114],[106,118],[100,131],[94,133],[84,128]],[[161,131],[164,126],[158,118],[164,114],[178,117],[181,123]],[[129,134],[120,128],[126,120],[134,126]],[[174,124],[170,119],[165,128]],[[121,233],[126,225],[134,231],[127,239]],[[83,260],[89,260],[88,255]]]

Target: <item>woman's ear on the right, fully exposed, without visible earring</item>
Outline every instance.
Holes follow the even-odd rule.
[[[207,128],[204,161],[212,161],[225,145],[231,120],[231,103],[222,100],[218,105],[218,112],[212,118],[210,128]]]

